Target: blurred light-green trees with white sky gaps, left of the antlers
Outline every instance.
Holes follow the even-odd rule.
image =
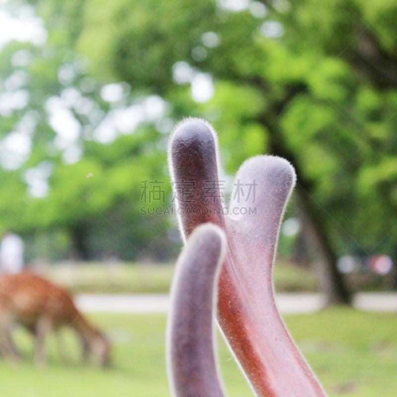
[[[170,198],[164,135],[155,128],[163,101],[131,98],[127,84],[103,86],[68,46],[67,30],[54,24],[48,37],[11,42],[0,55],[0,229],[28,245],[64,233],[79,259],[167,260],[176,253],[170,217],[139,214],[153,206],[140,199],[142,181],[158,179]],[[29,248],[28,261],[37,255]]]

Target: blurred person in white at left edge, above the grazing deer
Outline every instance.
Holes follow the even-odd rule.
[[[23,268],[24,244],[22,239],[10,232],[5,232],[0,243],[0,273],[18,273]]]

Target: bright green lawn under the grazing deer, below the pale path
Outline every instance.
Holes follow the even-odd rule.
[[[90,318],[113,341],[114,366],[82,367],[71,332],[64,333],[68,363],[60,362],[55,338],[49,339],[49,365],[36,369],[30,337],[15,339],[24,364],[0,361],[0,396],[6,397],[166,397],[165,316],[98,314]],[[397,396],[397,316],[333,308],[285,321],[329,396]],[[223,341],[219,358],[227,396],[252,396]]]

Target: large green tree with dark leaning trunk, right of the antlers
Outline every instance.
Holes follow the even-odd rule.
[[[349,300],[340,254],[396,258],[397,1],[34,4],[49,43],[87,57],[99,85],[161,98],[163,131],[188,115],[211,121],[226,171],[259,153],[291,160],[329,302]]]

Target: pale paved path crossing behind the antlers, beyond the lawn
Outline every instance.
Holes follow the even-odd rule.
[[[315,293],[276,295],[278,309],[283,314],[312,313],[324,306],[324,297]],[[167,294],[80,294],[77,306],[85,312],[167,313]],[[359,293],[353,306],[368,311],[397,312],[397,293]]]

